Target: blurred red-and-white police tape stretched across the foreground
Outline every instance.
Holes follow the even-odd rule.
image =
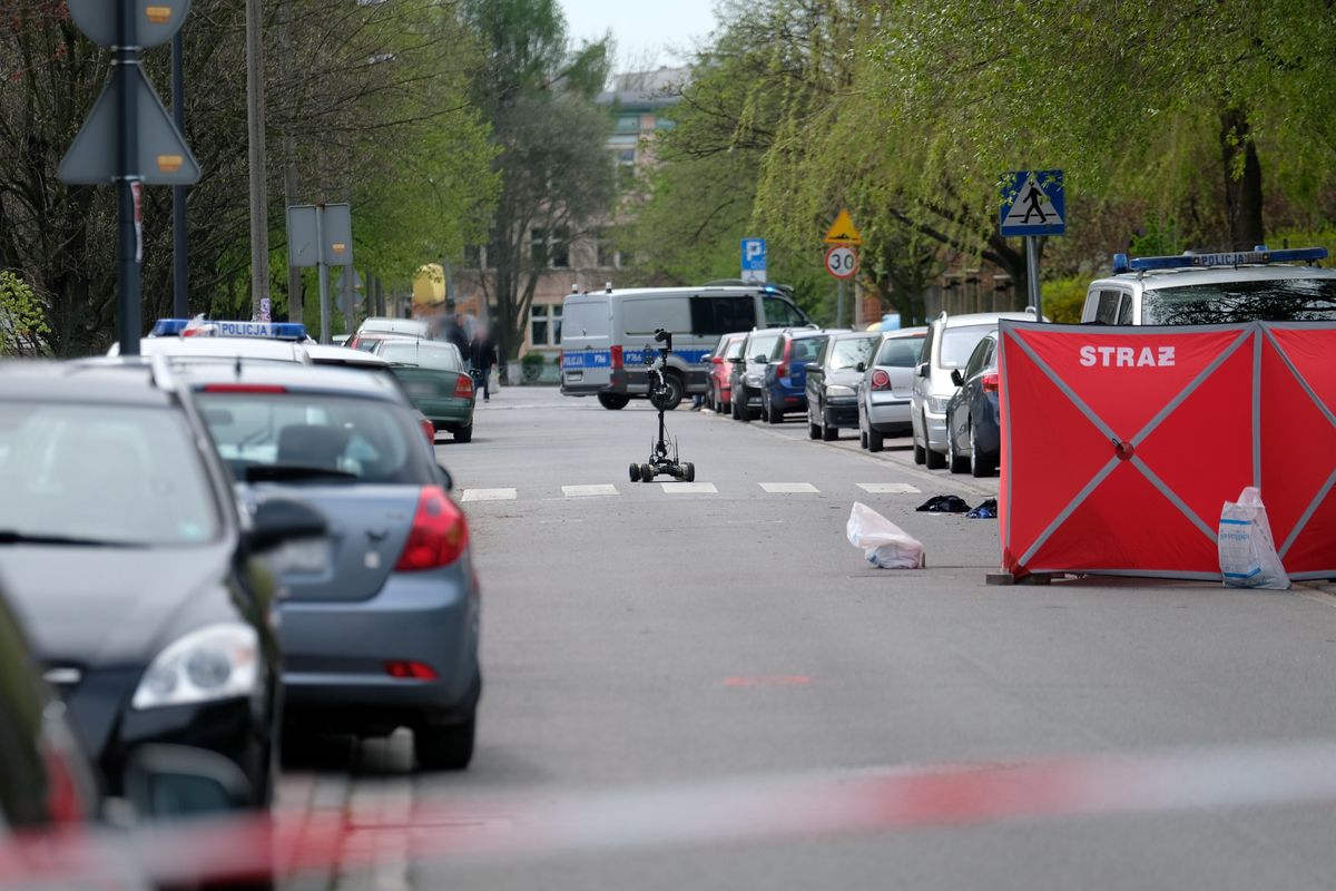
[[[0,887],[139,875],[159,884],[488,863],[1058,818],[1336,801],[1336,744],[764,775],[595,793],[279,811],[0,843]],[[114,886],[112,886],[114,887]]]

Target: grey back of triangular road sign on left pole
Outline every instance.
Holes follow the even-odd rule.
[[[139,65],[116,65],[88,120],[75,136],[60,162],[57,176],[71,186],[99,186],[122,175],[120,154],[120,79],[130,77],[138,107],[138,158],[131,178],[148,186],[190,186],[199,182],[199,163],[186,146],[158,94],[148,84]]]

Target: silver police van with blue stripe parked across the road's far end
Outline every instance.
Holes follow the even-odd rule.
[[[669,407],[685,394],[704,393],[705,357],[724,334],[808,325],[774,285],[623,289],[570,294],[561,309],[561,393],[596,395],[605,409],[621,409],[649,395],[644,357],[655,331],[672,331],[673,354],[665,382]]]

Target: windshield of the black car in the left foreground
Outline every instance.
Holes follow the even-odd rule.
[[[0,534],[127,546],[219,533],[215,496],[174,409],[0,405]]]

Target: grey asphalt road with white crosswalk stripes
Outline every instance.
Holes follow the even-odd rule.
[[[787,839],[453,859],[433,832],[505,839],[526,831],[529,803],[587,791],[1336,739],[1331,596],[1108,580],[990,588],[995,522],[914,508],[946,493],[978,504],[995,478],[915,468],[907,443],[870,456],[854,433],[811,442],[800,418],[774,427],[679,410],[669,430],[697,485],[632,484],[653,430],[644,403],[605,411],[505,389],[478,407],[473,442],[442,438],[484,585],[474,764],[418,775],[405,732],[299,753],[282,784],[290,819],[342,814],[347,850],[382,856],[374,871],[290,887],[1336,882],[1336,808],[1317,804],[820,838],[804,807],[784,815],[798,823]],[[844,538],[854,501],[923,541],[927,569],[870,568]],[[687,823],[732,831],[708,799],[696,806]],[[632,795],[609,822],[629,832],[656,807],[667,806]]]

